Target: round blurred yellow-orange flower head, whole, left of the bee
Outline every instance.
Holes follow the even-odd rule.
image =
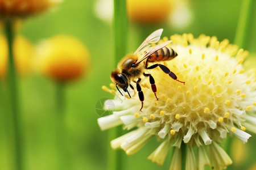
[[[79,78],[89,67],[89,52],[75,37],[59,35],[44,40],[36,49],[35,69],[59,81]]]

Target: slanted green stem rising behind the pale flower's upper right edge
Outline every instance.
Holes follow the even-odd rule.
[[[234,38],[234,44],[237,44],[240,48],[245,48],[246,40],[249,37],[250,29],[250,17],[253,12],[253,1],[243,0],[240,10],[240,16],[237,23],[236,35]]]

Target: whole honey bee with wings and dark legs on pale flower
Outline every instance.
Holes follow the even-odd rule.
[[[110,75],[110,78],[115,83],[115,86],[121,95],[123,94],[119,90],[118,86],[122,88],[124,92],[127,92],[127,94],[130,96],[127,88],[130,87],[134,90],[134,87],[131,85],[131,81],[136,83],[139,100],[141,100],[141,109],[139,110],[141,112],[143,108],[144,95],[139,83],[141,82],[142,75],[149,77],[151,89],[155,94],[156,100],[158,100],[158,97],[156,96],[155,80],[151,74],[144,73],[145,70],[160,67],[160,69],[164,73],[171,76],[172,79],[185,84],[185,82],[178,80],[177,76],[170,69],[168,69],[168,67],[160,63],[155,63],[160,61],[168,61],[174,59],[177,56],[175,50],[167,46],[172,41],[164,41],[158,45],[151,46],[151,44],[160,40],[162,32],[163,29],[158,29],[152,32],[134,53],[127,54],[125,57],[123,57],[123,59],[121,59],[117,65],[117,69],[112,71]],[[148,67],[148,63],[154,64]]]

